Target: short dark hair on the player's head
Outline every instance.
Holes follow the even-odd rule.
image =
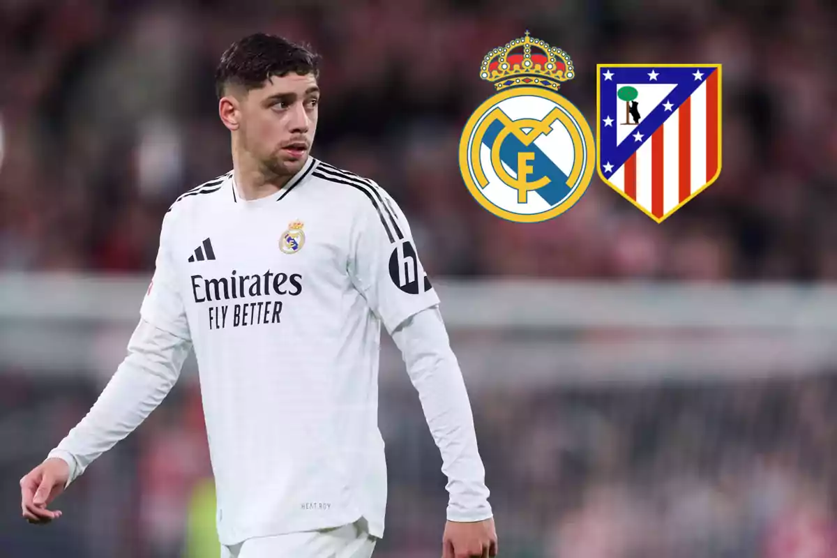
[[[259,89],[271,76],[281,77],[289,72],[319,77],[319,64],[320,55],[308,45],[254,33],[236,41],[221,55],[215,70],[215,93],[221,99],[228,84],[243,86],[247,91]]]

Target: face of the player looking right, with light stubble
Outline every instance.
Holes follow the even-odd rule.
[[[319,103],[313,74],[271,77],[241,99],[239,132],[244,149],[277,176],[300,171],[314,142]]]

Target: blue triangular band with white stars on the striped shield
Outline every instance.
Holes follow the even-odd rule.
[[[657,74],[656,79],[650,79],[649,74],[651,73],[651,70],[654,70]],[[695,79],[694,74],[698,70],[700,70],[701,74],[703,74],[701,79]],[[598,106],[600,120],[596,123],[596,125],[598,126],[599,137],[598,166],[602,171],[603,176],[605,178],[609,178],[615,171],[618,171],[619,168],[624,165],[625,161],[628,161],[630,156],[634,155],[639,147],[643,146],[646,141],[651,139],[654,132],[657,131],[661,125],[665,124],[665,120],[668,120],[669,117],[675,113],[675,110],[677,110],[680,105],[682,105],[686,99],[688,99],[691,94],[693,94],[697,88],[706,81],[709,74],[714,71],[716,71],[714,66],[647,66],[643,68],[623,68],[620,66],[614,66],[610,68],[600,68],[598,72]],[[605,79],[605,72],[610,72],[613,76],[610,79]],[[619,100],[616,90],[617,84],[675,85],[675,89],[672,90],[671,93],[667,95],[664,100],[662,100],[662,102],[660,102],[660,105],[655,106],[654,110],[651,110],[650,114],[643,115],[643,118],[639,120],[639,125],[635,125],[633,127],[633,131],[631,131],[631,135],[626,136],[619,145],[616,143],[616,128],[619,125],[619,122],[621,122],[621,119],[624,118],[624,110],[620,110],[619,114],[613,114],[614,100]],[[622,101],[619,102],[621,103]],[[665,106],[663,106],[665,102],[671,103],[671,110],[665,110]],[[640,111],[642,110],[641,104],[639,105],[639,109]],[[614,123],[606,126],[604,125],[603,120],[608,116],[614,120]],[[637,132],[642,135],[642,140],[640,141],[636,141],[633,137],[633,135]],[[613,165],[613,169],[610,172],[605,171],[603,168],[604,163],[610,163]]]

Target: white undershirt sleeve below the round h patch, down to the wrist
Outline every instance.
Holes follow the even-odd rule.
[[[392,336],[410,381],[419,392],[424,417],[442,455],[442,472],[448,477],[450,497],[448,520],[481,521],[492,517],[470,400],[439,307],[408,318]]]

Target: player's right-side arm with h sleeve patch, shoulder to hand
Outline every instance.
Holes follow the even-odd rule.
[[[363,204],[352,228],[348,271],[401,350],[442,453],[450,494],[443,555],[494,556],[497,535],[474,417],[439,314],[439,296],[424,273],[401,208],[375,182],[358,182],[370,203]]]

